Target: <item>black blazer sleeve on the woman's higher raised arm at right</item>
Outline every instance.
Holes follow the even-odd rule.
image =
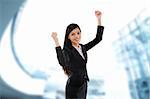
[[[95,39],[85,44],[86,51],[94,47],[96,44],[98,44],[102,40],[103,31],[104,31],[104,26],[97,26],[97,34],[96,34]]]

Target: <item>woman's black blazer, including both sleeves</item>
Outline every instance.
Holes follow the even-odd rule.
[[[64,49],[62,49],[60,46],[56,47],[57,59],[59,64],[63,68],[67,68],[71,72],[69,74],[71,84],[81,85],[85,80],[89,81],[86,69],[87,51],[102,40],[103,30],[103,26],[98,26],[95,39],[87,44],[80,44],[85,59],[82,58],[82,56],[74,47],[65,47]]]

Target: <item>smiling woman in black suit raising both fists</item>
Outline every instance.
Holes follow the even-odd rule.
[[[87,51],[102,40],[104,27],[101,26],[101,12],[95,11],[98,20],[97,34],[94,40],[87,44],[80,44],[81,29],[77,24],[67,26],[64,47],[59,45],[57,33],[52,33],[56,44],[56,53],[59,64],[68,75],[65,96],[66,99],[86,99],[87,81]]]

